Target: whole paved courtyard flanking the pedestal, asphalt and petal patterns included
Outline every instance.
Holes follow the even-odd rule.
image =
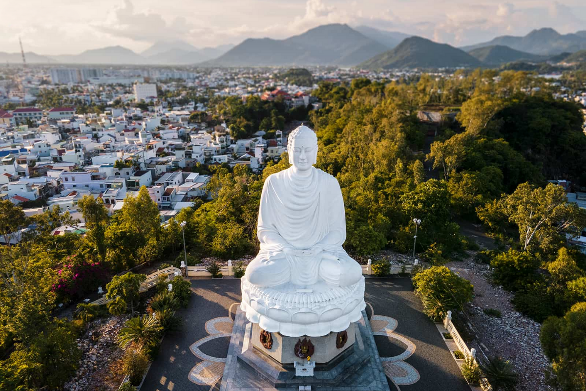
[[[240,280],[192,280],[185,324],[167,334],[142,391],[219,389]],[[408,278],[367,278],[366,312],[391,390],[469,391]]]

